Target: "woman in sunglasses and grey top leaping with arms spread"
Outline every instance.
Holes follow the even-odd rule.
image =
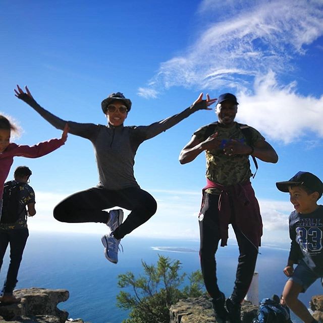
[[[66,121],[43,109],[33,99],[27,87],[25,93],[18,86],[16,94],[52,126],[57,129],[64,128]],[[120,240],[149,220],[156,211],[155,199],[139,187],[134,177],[134,157],[139,145],[198,110],[211,110],[208,106],[216,100],[211,99],[208,94],[206,100],[203,100],[201,93],[190,107],[175,116],[149,126],[129,127],[124,126],[124,121],[131,109],[131,100],[117,92],[101,103],[107,126],[69,121],[70,133],[89,139],[93,144],[99,183],[60,202],[53,211],[55,219],[68,223],[106,224],[111,232],[101,238],[104,254],[109,261],[117,263]],[[122,209],[104,211],[115,206],[131,210],[124,223]]]

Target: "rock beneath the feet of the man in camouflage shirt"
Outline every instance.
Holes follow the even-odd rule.
[[[242,323],[251,323],[258,306],[244,301],[241,306]],[[216,323],[212,304],[206,296],[180,300],[170,308],[170,323]]]

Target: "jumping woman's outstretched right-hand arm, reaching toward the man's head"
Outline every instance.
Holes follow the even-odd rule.
[[[198,98],[194,101],[194,103],[182,111],[181,113],[174,115],[172,117],[169,117],[167,119],[161,120],[159,122],[155,122],[151,124],[150,126],[140,126],[137,127],[138,131],[141,131],[144,133],[144,140],[150,139],[159,133],[166,131],[167,129],[175,126],[179,122],[181,122],[183,119],[187,118],[194,112],[198,110],[212,110],[209,108],[211,104],[216,102],[217,98],[211,99],[209,95],[206,95],[206,99],[203,100],[203,93],[201,93]]]

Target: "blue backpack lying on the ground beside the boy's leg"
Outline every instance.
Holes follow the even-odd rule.
[[[287,307],[270,298],[264,298],[259,303],[258,316],[252,323],[292,323],[292,321]]]

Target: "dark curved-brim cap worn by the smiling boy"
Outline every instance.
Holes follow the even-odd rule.
[[[288,188],[290,186],[301,186],[308,194],[318,192],[318,199],[323,193],[322,181],[317,176],[309,172],[298,172],[289,181],[277,182],[276,186],[280,191],[286,193],[289,192]]]

